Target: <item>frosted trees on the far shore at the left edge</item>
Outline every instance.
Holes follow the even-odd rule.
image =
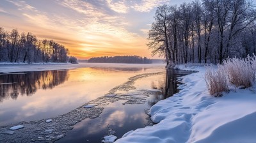
[[[19,33],[17,29],[9,32],[0,27],[0,62],[76,63],[76,57],[68,54],[67,48],[53,40],[38,40],[32,33]]]

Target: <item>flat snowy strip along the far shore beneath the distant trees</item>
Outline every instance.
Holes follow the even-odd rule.
[[[75,68],[152,68],[164,67],[164,64],[111,64],[111,63],[79,63],[79,64],[63,64],[63,63],[47,63],[47,64],[0,64],[0,73],[10,72],[28,72],[28,71],[45,71],[45,70],[66,70]]]

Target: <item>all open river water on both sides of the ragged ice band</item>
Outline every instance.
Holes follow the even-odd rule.
[[[56,142],[101,142],[106,135],[115,135],[119,139],[130,130],[151,126],[153,123],[145,112],[159,100],[177,93],[180,84],[177,79],[189,73],[192,72],[164,68],[81,68],[0,74],[0,138],[5,139],[2,140],[5,142],[19,137],[19,130],[16,132],[17,137],[15,134],[1,133],[13,124],[54,120],[54,117],[66,114],[86,102],[105,101],[100,98],[104,94],[115,93],[117,96],[109,97],[105,101],[106,105],[99,105],[103,107],[99,116],[76,121],[76,124],[70,125],[72,128],[62,131],[64,137],[52,139]],[[132,102],[129,100],[131,97]],[[72,116],[69,120],[73,120]],[[61,122],[65,124],[65,121]],[[24,129],[26,132],[26,126]],[[39,138],[36,135],[33,135],[33,142],[52,142],[46,138],[36,140]],[[24,139],[21,136],[20,140],[15,139],[13,142],[29,140],[30,137],[29,133]]]

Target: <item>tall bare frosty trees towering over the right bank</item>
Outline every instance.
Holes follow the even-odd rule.
[[[202,0],[159,6],[148,33],[152,54],[167,64],[222,63],[256,54],[256,12],[251,1]]]

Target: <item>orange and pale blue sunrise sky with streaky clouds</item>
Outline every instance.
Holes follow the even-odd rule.
[[[190,1],[1,0],[0,27],[57,41],[79,59],[117,55],[152,58],[146,43],[156,7]]]

